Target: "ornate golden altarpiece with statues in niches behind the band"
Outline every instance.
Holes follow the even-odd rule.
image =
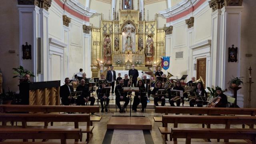
[[[153,65],[165,56],[167,31],[157,28],[158,15],[146,21],[139,10],[123,8],[117,16],[113,13],[114,20],[104,20],[101,15],[100,28],[92,27],[92,77],[106,74],[111,65],[115,70],[135,64],[138,70],[153,71]]]

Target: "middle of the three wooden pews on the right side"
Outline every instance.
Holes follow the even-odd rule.
[[[163,127],[159,127],[161,134],[164,134],[164,139],[167,140],[167,134],[171,134],[171,129],[167,128],[168,123],[173,123],[174,128],[178,128],[179,124],[225,124],[225,128],[229,129],[230,124],[249,124],[250,128],[254,128],[256,124],[255,116],[177,116],[177,115],[163,115]],[[171,140],[171,137],[170,137]]]

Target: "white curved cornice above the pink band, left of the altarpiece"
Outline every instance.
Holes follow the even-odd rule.
[[[91,17],[93,14],[96,13],[96,10],[91,10],[88,7],[85,7],[84,5],[80,4],[77,0],[59,0],[62,4],[70,8],[71,10],[74,10],[75,12],[78,12],[79,14],[82,14],[87,17]]]

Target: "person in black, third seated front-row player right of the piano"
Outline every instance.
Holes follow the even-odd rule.
[[[109,93],[102,93],[102,89],[106,87],[106,84],[103,82],[101,84],[102,88],[97,89],[98,99],[100,99],[101,112],[104,112],[103,102],[106,101],[105,111],[108,112],[108,103],[109,103]]]

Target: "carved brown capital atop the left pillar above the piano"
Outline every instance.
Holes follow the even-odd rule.
[[[35,5],[48,11],[52,4],[52,0],[18,0],[19,5]]]

